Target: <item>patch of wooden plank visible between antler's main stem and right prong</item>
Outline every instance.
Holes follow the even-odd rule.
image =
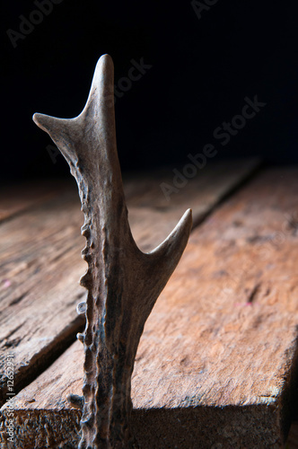
[[[259,169],[260,161],[209,163],[197,177],[170,199],[162,193],[161,183],[172,185],[173,172],[132,174],[125,178],[129,222],[142,251],[151,251],[178,223],[188,207],[192,209],[193,227],[199,225],[223,199]],[[162,225],[166,223],[166,225]]]

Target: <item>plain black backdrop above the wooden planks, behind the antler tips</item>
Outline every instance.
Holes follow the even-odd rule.
[[[200,19],[195,9],[181,0],[62,0],[13,48],[7,30],[20,32],[20,15],[30,19],[39,8],[2,2],[1,180],[68,176],[31,116],[78,115],[103,53],[114,60],[116,84],[132,59],[152,66],[116,101],[124,170],[183,165],[208,143],[216,158],[259,154],[268,163],[298,162],[297,2],[218,0]],[[256,94],[267,105],[221,145],[215,128]]]

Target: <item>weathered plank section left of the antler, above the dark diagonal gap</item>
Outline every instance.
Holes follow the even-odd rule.
[[[85,269],[79,254],[83,215],[73,197],[72,192],[61,193],[0,226],[0,361],[4,366],[7,351],[14,352],[15,392],[83,328],[83,317],[75,313],[85,295],[77,282]],[[4,401],[4,370],[0,379]]]

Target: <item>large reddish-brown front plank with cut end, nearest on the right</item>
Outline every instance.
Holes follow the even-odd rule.
[[[263,172],[191,235],[136,356],[142,448],[283,447],[297,381],[297,198],[297,168]],[[76,447],[80,413],[66,396],[80,394],[82,365],[76,342],[15,397],[17,447]]]

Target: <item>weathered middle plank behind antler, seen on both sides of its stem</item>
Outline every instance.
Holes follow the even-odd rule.
[[[258,163],[215,164],[207,169],[208,174],[202,172],[202,180],[189,181],[168,206],[160,189],[162,180],[169,178],[168,172],[158,173],[154,180],[143,176],[127,182],[129,219],[136,242],[143,250],[161,242],[192,201],[198,222]],[[192,193],[189,201],[192,189],[196,194]],[[144,191],[146,199],[142,203],[139,196]],[[75,312],[76,304],[85,295],[78,279],[86,269],[80,255],[84,246],[80,235],[83,214],[77,197],[73,183],[57,198],[0,225],[0,365],[4,366],[7,351],[13,350],[15,392],[58,357],[83,326],[82,316]],[[155,210],[155,204],[160,208]],[[6,390],[2,369],[1,403],[6,399]]]

